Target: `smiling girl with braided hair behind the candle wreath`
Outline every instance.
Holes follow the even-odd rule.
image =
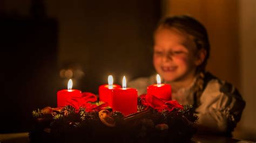
[[[230,83],[205,71],[210,43],[205,27],[188,16],[168,17],[154,32],[153,65],[172,86],[172,99],[193,104],[198,131],[231,135],[245,102]],[[156,83],[156,75],[130,82],[139,95]]]

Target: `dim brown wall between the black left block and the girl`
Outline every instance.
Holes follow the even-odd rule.
[[[120,84],[123,75],[130,81],[154,72],[152,34],[160,18],[159,1],[76,2],[68,8],[69,3],[58,8],[49,3],[49,13],[60,20],[59,70],[84,73],[73,77],[74,88],[97,94],[109,74]],[[60,89],[66,83],[63,78]]]

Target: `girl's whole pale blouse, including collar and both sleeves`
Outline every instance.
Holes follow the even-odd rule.
[[[136,88],[138,95],[146,94],[147,86],[156,83],[156,75],[140,77],[129,82],[129,87]],[[194,80],[195,82],[196,80]],[[194,97],[191,87],[180,89],[172,93],[172,99],[180,104],[193,104]],[[230,135],[241,118],[245,102],[233,85],[218,78],[208,81],[203,94],[200,96],[200,105],[196,108],[199,121],[198,131]]]

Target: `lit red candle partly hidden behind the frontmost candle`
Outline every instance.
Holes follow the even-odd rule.
[[[113,84],[113,76],[109,75],[107,77],[107,82],[109,84],[103,84],[99,87],[99,101],[109,103],[109,106],[112,106],[112,90],[114,88],[120,88],[120,85]]]

